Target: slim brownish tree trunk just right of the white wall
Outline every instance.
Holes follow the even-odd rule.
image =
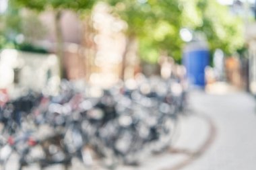
[[[56,54],[59,58],[59,73],[61,75],[61,79],[66,79],[67,74],[65,70],[65,49],[63,32],[61,29],[61,16],[62,11],[57,9],[57,11],[55,11]]]

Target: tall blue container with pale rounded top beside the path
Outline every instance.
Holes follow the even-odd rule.
[[[205,43],[188,44],[183,53],[183,65],[191,85],[205,87],[205,67],[209,65],[210,53]]]

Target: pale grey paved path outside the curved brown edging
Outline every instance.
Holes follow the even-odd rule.
[[[256,101],[253,97],[243,92],[209,95],[195,91],[189,101],[193,110],[214,120],[217,136],[209,151],[184,170],[255,170]]]

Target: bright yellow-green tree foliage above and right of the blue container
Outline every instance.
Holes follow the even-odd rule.
[[[220,48],[232,54],[242,48],[243,22],[217,1],[183,1],[183,26],[205,34],[210,50]]]

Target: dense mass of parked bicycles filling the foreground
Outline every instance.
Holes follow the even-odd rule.
[[[2,169],[18,157],[18,169],[65,168],[72,160],[108,168],[138,165],[170,146],[185,90],[177,79],[127,81],[110,89],[63,81],[58,95],[35,93],[0,108]]]

